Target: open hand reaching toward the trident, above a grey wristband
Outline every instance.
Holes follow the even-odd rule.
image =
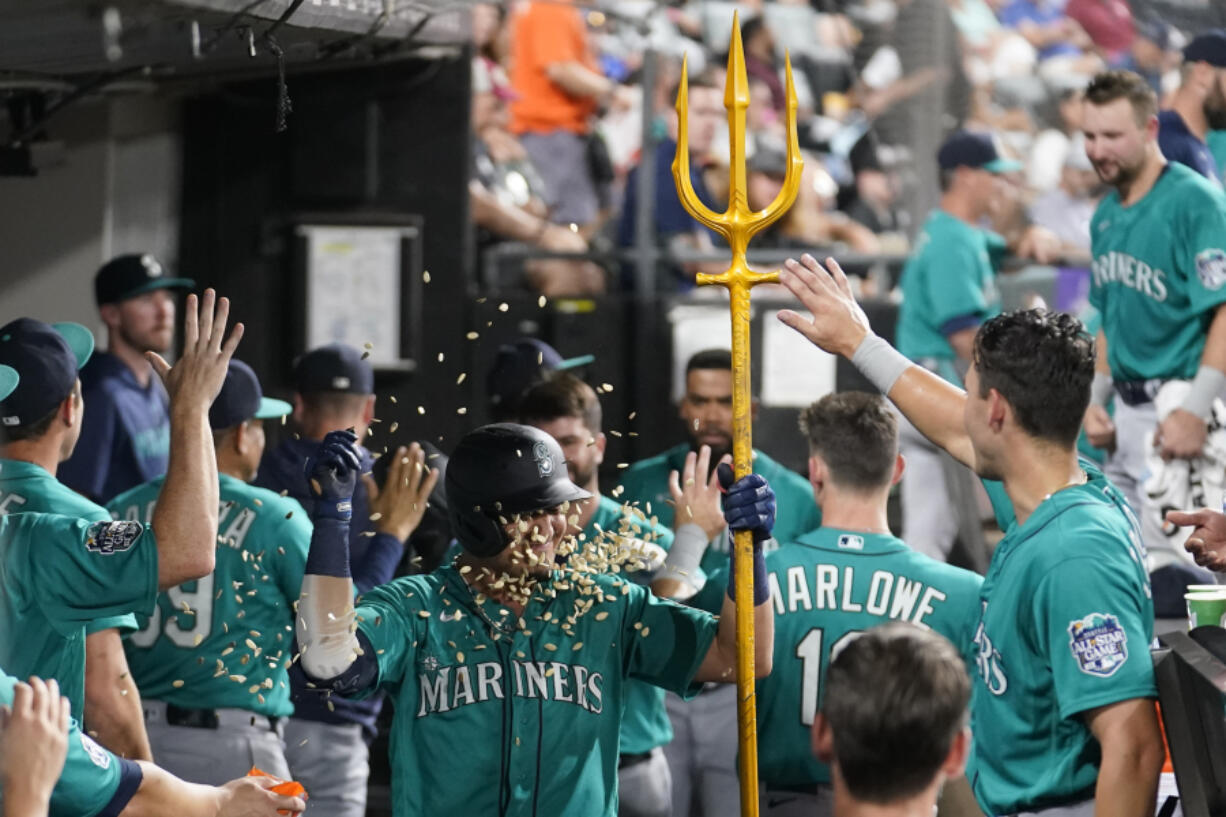
[[[825,266],[808,253],[799,261],[790,258],[779,281],[813,315],[810,319],[783,309],[779,319],[826,352],[851,357],[872,331],[868,316],[851,293],[847,276],[832,258],[826,259]]]

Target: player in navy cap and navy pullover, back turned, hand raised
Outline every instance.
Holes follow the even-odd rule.
[[[329,343],[294,362],[293,380],[297,432],[265,454],[255,483],[297,499],[310,514],[315,498],[303,466],[329,432],[353,428],[358,439],[368,438],[375,415],[375,375],[359,350]],[[365,475],[374,455],[362,447],[359,451]],[[395,478],[385,480],[380,491],[363,476],[353,494],[357,521],[349,527],[349,553],[359,593],[391,580],[438,481],[434,469],[422,467],[424,455],[417,443],[389,456],[395,460]],[[286,757],[294,779],[311,792],[311,813],[363,817],[368,742],[375,737],[383,698],[325,698],[308,686],[297,664],[289,667],[289,683],[294,715],[286,724]]]

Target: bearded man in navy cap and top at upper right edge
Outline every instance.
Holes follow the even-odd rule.
[[[1205,32],[1183,49],[1179,90],[1157,123],[1162,156],[1221,184],[1205,140],[1210,130],[1226,129],[1226,31]]]

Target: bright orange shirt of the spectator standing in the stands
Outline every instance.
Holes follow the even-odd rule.
[[[547,74],[555,63],[579,63],[600,71],[582,13],[569,2],[530,2],[515,13],[511,25],[511,86],[519,93],[511,102],[511,130],[586,134],[596,99],[571,96]]]

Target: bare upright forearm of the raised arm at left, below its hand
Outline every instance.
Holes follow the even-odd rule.
[[[217,547],[217,459],[207,406],[170,406],[170,459],[153,509],[158,586],[212,572]]]

